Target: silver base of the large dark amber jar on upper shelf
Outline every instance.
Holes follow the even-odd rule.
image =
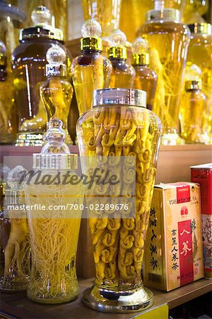
[[[44,133],[18,133],[16,146],[42,146]]]

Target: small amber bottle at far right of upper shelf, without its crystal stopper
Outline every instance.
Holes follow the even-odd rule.
[[[205,122],[208,118],[206,96],[201,92],[201,80],[186,81],[179,108],[181,136],[187,144],[209,142]]]

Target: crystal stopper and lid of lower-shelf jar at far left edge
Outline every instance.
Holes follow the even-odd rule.
[[[5,191],[5,200],[7,205],[24,203],[25,174],[27,170],[18,165],[8,172],[7,184],[10,189]]]

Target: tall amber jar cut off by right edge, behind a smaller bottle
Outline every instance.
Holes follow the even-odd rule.
[[[212,28],[209,23],[189,25],[191,40],[189,43],[187,66],[197,65],[201,69],[202,92],[207,98],[208,134],[212,139]]]

